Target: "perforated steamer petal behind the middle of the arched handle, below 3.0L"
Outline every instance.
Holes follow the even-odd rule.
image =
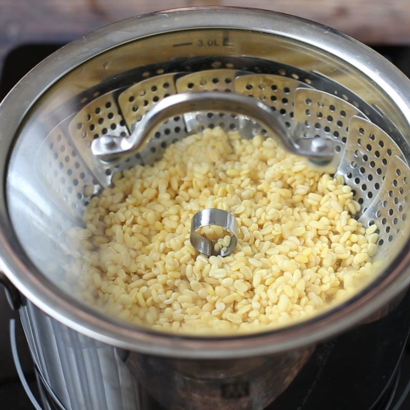
[[[198,91],[235,90],[234,80],[241,72],[231,69],[204,70],[184,75],[176,80],[178,93]],[[183,115],[187,131],[197,132],[204,128],[220,126],[223,129],[235,130],[239,127],[238,116],[224,113],[192,112]]]

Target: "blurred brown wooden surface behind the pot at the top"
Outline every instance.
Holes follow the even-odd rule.
[[[410,0],[0,0],[0,69],[18,45],[68,42],[135,14],[200,5],[276,10],[332,26],[367,44],[410,44]]]

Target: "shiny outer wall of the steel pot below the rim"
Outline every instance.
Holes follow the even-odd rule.
[[[40,382],[66,410],[260,410],[299,373],[314,347],[238,359],[130,352],[82,335],[31,302],[20,317]]]

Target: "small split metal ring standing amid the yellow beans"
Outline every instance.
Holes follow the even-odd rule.
[[[203,209],[194,215],[190,235],[192,246],[202,255],[211,256],[214,254],[214,242],[196,232],[199,228],[212,225],[222,227],[232,234],[230,244],[226,249],[221,249],[219,253],[221,256],[230,255],[238,243],[238,222],[231,213],[221,209]]]

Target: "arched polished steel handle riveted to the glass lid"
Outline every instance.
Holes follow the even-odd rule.
[[[141,150],[149,141],[154,129],[162,121],[196,111],[218,111],[245,115],[256,120],[276,138],[284,149],[308,157],[316,163],[329,163],[334,156],[332,141],[324,138],[300,138],[292,135],[280,114],[273,112],[261,101],[237,93],[220,91],[192,92],[170,95],[159,101],[138,123],[129,137],[103,135],[91,145],[99,159],[110,161],[124,154]]]

